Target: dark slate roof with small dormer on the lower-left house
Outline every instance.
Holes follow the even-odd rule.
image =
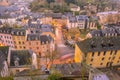
[[[15,66],[14,61],[18,60],[19,66],[31,65],[32,62],[32,51],[30,50],[11,50],[10,56],[10,67],[19,67]]]

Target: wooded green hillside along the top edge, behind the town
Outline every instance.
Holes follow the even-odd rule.
[[[96,7],[96,11],[105,11],[106,8],[116,10],[119,4],[112,0],[34,0],[30,4],[33,12],[69,12],[71,5],[80,6],[81,10],[90,5]],[[93,12],[94,13],[94,12]]]

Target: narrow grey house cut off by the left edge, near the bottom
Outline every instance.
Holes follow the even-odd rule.
[[[9,76],[8,64],[5,54],[0,50],[0,77]]]

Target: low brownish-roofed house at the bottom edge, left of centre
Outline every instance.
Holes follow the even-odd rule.
[[[14,76],[14,80],[46,80],[49,74],[40,69],[24,70]]]

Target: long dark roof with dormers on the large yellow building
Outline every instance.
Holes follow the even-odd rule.
[[[94,37],[76,44],[83,53],[120,50],[120,37]]]

